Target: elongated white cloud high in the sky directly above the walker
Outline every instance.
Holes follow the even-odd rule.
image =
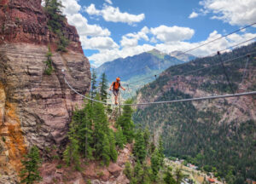
[[[132,25],[145,19],[145,14],[128,14],[120,12],[119,8],[104,5],[102,10],[96,9],[92,3],[89,7],[84,8],[85,12],[90,15],[102,15],[103,19],[112,22],[123,22]]]

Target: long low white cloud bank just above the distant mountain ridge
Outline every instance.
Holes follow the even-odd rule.
[[[206,40],[203,40],[201,42],[197,43],[190,43],[190,42],[184,42],[184,41],[177,41],[177,42],[171,42],[171,43],[156,43],[155,45],[150,44],[143,44],[143,45],[136,45],[131,47],[124,47],[121,49],[106,49],[102,50],[100,53],[97,53],[95,55],[91,55],[89,57],[89,60],[93,60],[95,62],[96,66],[102,65],[106,61],[115,60],[117,58],[125,58],[127,56],[132,55],[139,55],[143,52],[147,52],[152,49],[158,49],[163,53],[169,54],[172,51],[180,50],[180,51],[186,51],[189,49],[193,49],[195,47],[198,47],[199,45],[203,43],[207,43],[209,41],[212,41],[213,39],[216,39],[218,37],[222,37],[221,34],[219,34],[217,31],[213,31],[209,34]],[[206,55],[212,55],[214,53],[217,53],[218,50],[229,48],[233,45],[236,45],[237,43],[241,43],[245,40],[248,40],[250,38],[256,37],[256,33],[245,33],[242,35],[239,34],[233,34],[229,37],[225,37],[222,39],[219,39],[218,41],[214,43],[207,44],[199,49],[195,49],[192,52],[189,52],[189,54],[195,55],[197,57],[206,56]],[[252,43],[251,41],[250,43]],[[244,45],[247,45],[248,43],[244,43]]]

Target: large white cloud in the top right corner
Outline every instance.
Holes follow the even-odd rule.
[[[223,20],[230,25],[244,26],[256,20],[255,0],[203,0],[205,11],[212,12],[212,19]]]

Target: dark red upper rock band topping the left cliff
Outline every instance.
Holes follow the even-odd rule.
[[[57,37],[49,31],[41,2],[42,0],[1,0],[0,43],[50,43],[55,47]],[[62,25],[62,31],[70,42],[68,49],[83,54],[76,28],[69,26],[66,21]]]

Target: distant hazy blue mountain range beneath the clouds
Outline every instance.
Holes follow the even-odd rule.
[[[177,52],[175,54],[177,55]],[[105,72],[108,81],[113,81],[117,77],[120,77],[122,81],[128,81],[131,78],[145,77],[148,73],[162,72],[169,66],[182,64],[185,61],[195,59],[195,56],[186,55],[183,59],[180,60],[175,56],[166,55],[159,50],[153,49],[140,55],[108,61],[96,68],[96,74],[100,76]]]

